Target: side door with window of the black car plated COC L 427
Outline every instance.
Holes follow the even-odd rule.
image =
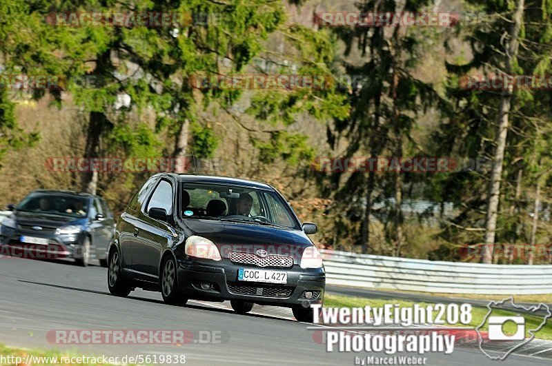
[[[166,178],[160,179],[148,199],[148,204],[139,214],[136,223],[137,236],[132,243],[132,262],[144,281],[158,281],[161,254],[175,233],[169,223],[151,218],[148,212],[150,208],[157,207],[163,208],[172,216],[175,207],[174,196],[173,183]]]

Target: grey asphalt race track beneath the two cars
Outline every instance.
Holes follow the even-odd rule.
[[[161,294],[138,290],[128,298],[108,293],[106,269],[81,268],[70,261],[0,258],[0,343],[55,348],[73,354],[133,356],[185,354],[190,365],[353,365],[365,352],[326,352],[306,323],[289,309],[255,305],[254,314],[238,315],[228,303],[188,302],[165,305]],[[50,343],[55,329],[186,329],[219,332],[221,342],[181,345],[60,345]],[[206,333],[211,332],[211,333]],[[551,352],[548,352],[552,356]],[[550,365],[540,356],[512,354],[499,365]],[[477,347],[455,347],[450,355],[424,354],[426,365],[493,365]],[[544,357],[544,358],[543,358]]]

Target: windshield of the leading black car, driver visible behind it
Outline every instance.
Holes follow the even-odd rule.
[[[276,192],[250,187],[182,183],[182,218],[297,228],[293,213]]]

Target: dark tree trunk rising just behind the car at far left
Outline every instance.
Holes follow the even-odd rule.
[[[90,122],[86,134],[84,156],[87,159],[99,157],[99,140],[103,128],[107,122],[106,115],[102,112],[90,112]],[[91,164],[89,164],[90,166]],[[98,187],[98,172],[84,172],[82,176],[82,190],[90,194],[96,194]]]

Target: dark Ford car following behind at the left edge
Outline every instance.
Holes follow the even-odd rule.
[[[24,258],[75,258],[86,266],[97,258],[107,267],[115,220],[99,196],[37,190],[17,205],[0,225],[2,254]]]

